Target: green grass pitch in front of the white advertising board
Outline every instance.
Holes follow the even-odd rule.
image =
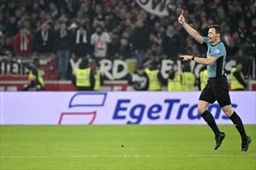
[[[2,125],[0,169],[255,169],[252,142],[240,151],[233,125],[214,151],[207,125]]]

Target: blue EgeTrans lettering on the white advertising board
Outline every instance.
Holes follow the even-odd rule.
[[[181,99],[164,99],[163,102],[160,101],[157,104],[147,104],[147,102],[131,103],[133,103],[131,99],[117,100],[112,120],[123,120],[126,121],[126,124],[140,124],[143,119],[151,122],[188,120],[190,123],[202,119],[197,113],[197,104],[183,103]],[[237,108],[237,104],[231,104],[231,107]],[[229,120],[222,113],[219,104],[209,105],[208,110],[216,120]]]

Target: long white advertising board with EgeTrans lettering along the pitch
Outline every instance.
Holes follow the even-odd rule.
[[[199,92],[0,92],[0,124],[206,124]],[[255,91],[230,92],[244,124],[256,124]],[[218,104],[208,110],[232,124]]]

